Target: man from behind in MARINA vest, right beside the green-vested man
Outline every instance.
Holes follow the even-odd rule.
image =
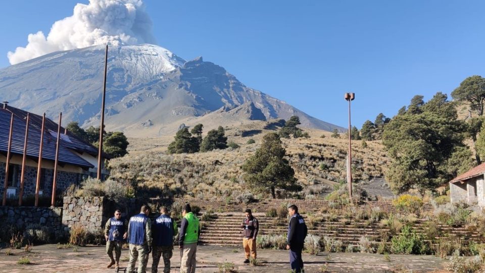
[[[177,223],[168,215],[167,207],[161,207],[160,217],[155,219],[153,224],[152,273],[158,272],[160,256],[163,257],[163,272],[170,272],[170,259],[173,255],[173,237],[177,232]]]

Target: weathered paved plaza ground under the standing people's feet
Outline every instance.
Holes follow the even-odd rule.
[[[7,255],[0,250],[0,272],[115,272],[107,269],[109,258],[104,247],[78,247],[57,249],[56,245],[34,246],[31,252],[13,250]],[[33,264],[18,265],[17,261],[27,257]],[[121,255],[122,266],[126,266],[128,251]],[[172,272],[179,271],[180,255],[174,251]],[[232,262],[232,272],[289,272],[288,253],[283,250],[258,250],[260,266],[243,263],[244,252],[236,247],[199,246],[197,250],[197,272],[219,272],[219,265]],[[306,272],[446,272],[446,260],[434,256],[390,255],[390,261],[383,255],[361,253],[304,254]],[[151,265],[151,258],[149,265]],[[163,266],[163,262],[161,264]],[[159,269],[159,272],[162,269]],[[150,270],[147,270],[150,272]],[[229,271],[227,271],[229,272]]]

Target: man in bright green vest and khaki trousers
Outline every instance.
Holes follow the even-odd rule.
[[[199,241],[199,219],[193,215],[190,205],[182,210],[182,221],[178,237],[180,249],[180,273],[194,273],[196,271],[197,242]]]

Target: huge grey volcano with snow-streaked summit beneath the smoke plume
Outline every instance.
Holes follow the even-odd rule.
[[[173,134],[180,123],[206,129],[300,116],[302,126],[343,131],[239,82],[202,58],[185,62],[157,45],[110,48],[106,126],[130,136]],[[104,47],[57,52],[0,70],[12,106],[99,126]],[[200,120],[200,121],[198,121]]]

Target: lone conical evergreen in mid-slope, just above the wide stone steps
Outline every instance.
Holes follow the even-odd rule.
[[[263,136],[261,147],[243,165],[244,179],[257,191],[269,190],[276,198],[276,190],[299,191],[295,170],[284,159],[285,149],[277,133]]]

